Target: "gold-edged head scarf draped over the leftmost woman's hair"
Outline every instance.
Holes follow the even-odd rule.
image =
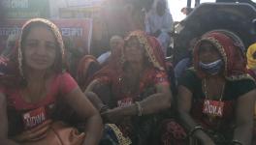
[[[19,87],[19,85],[24,85],[25,83],[25,76],[24,76],[24,58],[23,58],[23,47],[24,47],[24,40],[26,39],[27,35],[29,34],[31,28],[36,26],[46,26],[48,30],[50,30],[56,40],[57,44],[57,54],[55,57],[55,62],[53,64],[53,71],[55,73],[62,73],[66,71],[66,59],[64,53],[64,43],[62,41],[62,36],[55,24],[53,24],[48,19],[44,18],[32,18],[25,22],[21,29],[21,35],[17,44],[17,48],[11,54],[11,57],[14,57],[14,60],[9,61],[8,67],[12,68],[12,72],[5,74],[5,76],[1,77],[0,82],[4,85]],[[39,34],[40,35],[40,34]],[[9,82],[9,83],[6,83]]]

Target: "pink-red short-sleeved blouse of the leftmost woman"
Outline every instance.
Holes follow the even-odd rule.
[[[61,95],[67,95],[78,87],[77,82],[69,73],[56,75],[48,85],[48,93],[44,99],[39,102],[25,102],[20,89],[1,88],[1,93],[7,96],[7,114],[9,122],[9,134],[14,135],[25,130],[25,123],[22,121],[26,113],[38,109],[44,109],[45,115],[40,121],[36,121],[34,126],[42,124],[50,116],[57,98]]]

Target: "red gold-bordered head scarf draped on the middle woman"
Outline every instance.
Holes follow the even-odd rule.
[[[146,35],[143,31],[134,31],[125,39],[125,42],[129,41],[132,37],[138,39],[139,43],[144,45],[145,55],[147,56],[145,61],[149,61],[150,65],[146,66],[142,78],[140,81],[140,92],[150,84],[165,84],[169,85],[168,76],[166,73],[166,65],[164,59],[164,53],[161,49],[158,41]],[[120,55],[119,55],[120,54]],[[116,54],[111,56],[109,64],[101,71],[94,75],[94,78],[99,79],[102,83],[112,83],[112,92],[117,97],[124,97],[126,95],[120,92],[122,87],[121,79],[125,73],[123,71],[124,61],[122,51],[116,51]],[[152,59],[153,58],[153,59]]]

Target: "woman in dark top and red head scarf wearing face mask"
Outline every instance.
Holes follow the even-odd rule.
[[[208,32],[195,46],[194,68],[179,80],[179,117],[192,144],[251,144],[255,82],[237,44]]]

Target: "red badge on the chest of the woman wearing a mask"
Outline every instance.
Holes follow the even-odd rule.
[[[203,106],[203,113],[210,116],[223,116],[224,102],[205,100]]]

